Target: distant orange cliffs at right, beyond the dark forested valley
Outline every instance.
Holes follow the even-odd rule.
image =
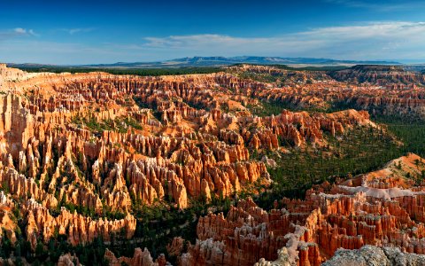
[[[402,66],[352,66],[328,72],[249,65],[230,69],[274,76],[277,82],[244,90],[265,101],[298,109],[356,108],[425,118],[425,74],[405,71]]]

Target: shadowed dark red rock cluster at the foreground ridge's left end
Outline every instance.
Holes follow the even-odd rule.
[[[274,231],[270,219],[282,224],[282,229]],[[287,214],[269,215],[252,200],[241,200],[237,207],[230,208],[226,218],[210,214],[199,219],[197,243],[182,255],[182,264],[252,265],[261,257],[273,257],[277,248],[284,246],[283,236],[289,230]]]

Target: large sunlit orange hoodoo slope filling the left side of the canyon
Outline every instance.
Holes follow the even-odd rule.
[[[219,141],[237,118],[221,113],[212,88],[249,82],[222,73],[27,74],[4,65],[0,76],[0,184],[8,192],[1,200],[8,210],[17,199],[25,205],[19,211],[33,249],[56,234],[72,245],[121,233],[129,239],[134,204],[185,208],[268,182],[241,135]],[[209,121],[219,127],[205,127]],[[113,215],[124,218],[104,218]]]

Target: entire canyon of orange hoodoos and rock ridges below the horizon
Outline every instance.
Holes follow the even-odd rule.
[[[196,241],[163,243],[180,265],[320,265],[367,245],[425,254],[425,164],[413,153],[313,184],[304,200],[282,195],[263,209],[251,197],[273,189],[287,153],[333,154],[350,132],[384,131],[375,113],[425,115],[423,74],[369,68],[137,76],[0,65],[0,238],[31,254],[58,239],[69,249],[101,241],[111,250],[97,259],[109,265],[166,265],[146,246],[114,254],[112,244],[144,240],[142,207],[209,204],[192,215]],[[295,108],[260,114],[265,103]],[[80,262],[64,253],[57,263]]]

